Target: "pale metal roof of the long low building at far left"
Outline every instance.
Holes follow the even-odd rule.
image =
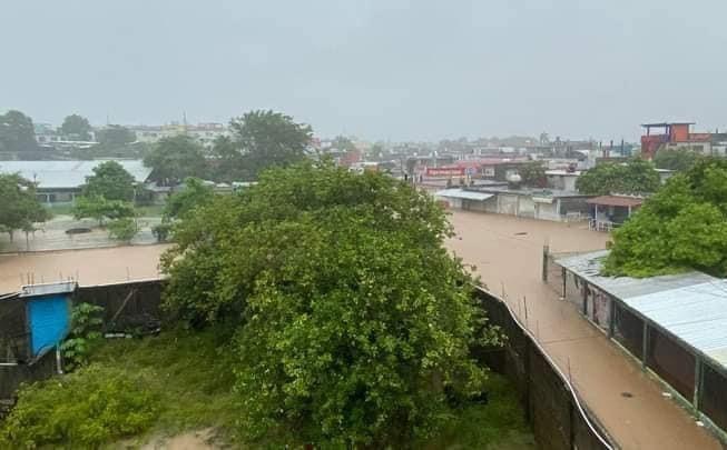
[[[108,160],[94,161],[0,161],[0,173],[20,173],[23,178],[38,182],[40,189],[73,189],[94,174],[94,168]],[[115,160],[134,179],[143,183],[149,178],[151,169],[141,160]]]

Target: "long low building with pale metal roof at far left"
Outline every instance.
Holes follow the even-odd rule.
[[[80,194],[86,177],[108,160],[95,161],[0,161],[0,173],[20,173],[36,183],[38,199],[45,203],[68,203]],[[116,160],[135,181],[146,183],[151,169],[141,160]]]

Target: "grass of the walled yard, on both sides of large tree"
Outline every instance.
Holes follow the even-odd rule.
[[[85,370],[106,373],[105,379],[116,377],[120,380],[141,380],[144,394],[154,399],[154,420],[139,428],[130,440],[125,440],[124,446],[136,447],[147,443],[151,437],[170,437],[185,431],[214,428],[223,441],[245,448],[236,432],[239,407],[233,391],[235,377],[232,368],[235,358],[226,349],[229,334],[219,329],[214,332],[166,331],[158,337],[106,341],[92,354],[92,363]],[[58,384],[58,379],[37,383],[31,389],[38,396],[38,391],[48,390],[51,384]],[[533,436],[512,386],[503,377],[490,373],[485,390],[489,399],[487,404],[469,404],[458,409],[440,436],[412,447],[452,450],[534,449]],[[51,399],[61,396],[56,391],[58,389],[47,396],[52,393]],[[94,392],[87,392],[83,397],[95,396]],[[66,408],[72,407],[78,411],[78,407],[73,407],[76,403],[81,404],[82,401],[65,402]],[[42,410],[50,407],[36,404],[35,408]],[[80,416],[79,422],[83,422]],[[129,429],[124,429],[127,430]],[[129,432],[124,434],[128,436]],[[111,441],[114,436],[119,433],[107,434]],[[258,444],[269,447],[265,442],[258,442],[255,447]]]

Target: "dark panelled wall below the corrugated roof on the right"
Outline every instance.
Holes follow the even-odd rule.
[[[620,299],[556,263],[543,252],[543,281],[640,361],[676,399],[727,442],[727,369],[682,342]]]

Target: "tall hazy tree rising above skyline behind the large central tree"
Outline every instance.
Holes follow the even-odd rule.
[[[286,167],[306,157],[312,129],[274,111],[250,111],[229,122],[233,136],[220,139],[213,151],[217,178],[223,181],[257,179],[269,167]]]

